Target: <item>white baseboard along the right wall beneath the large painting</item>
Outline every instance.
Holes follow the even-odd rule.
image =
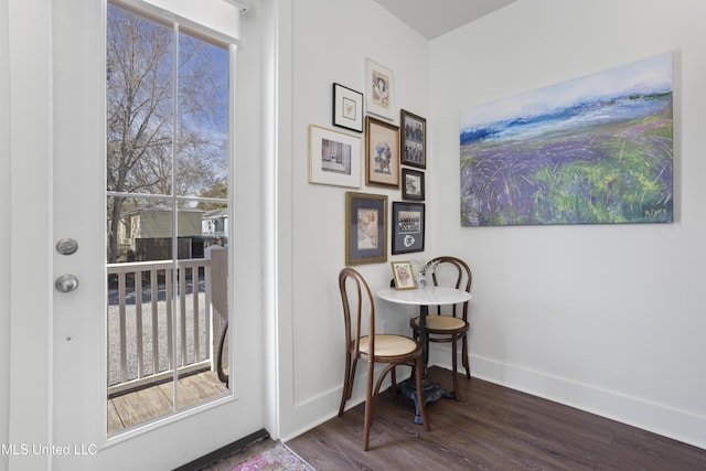
[[[470,361],[473,377],[706,449],[706,417],[492,358]],[[451,370],[451,350],[434,345],[429,364]]]

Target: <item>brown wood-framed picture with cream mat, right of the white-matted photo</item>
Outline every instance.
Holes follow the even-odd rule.
[[[399,128],[365,117],[365,183],[399,188]]]

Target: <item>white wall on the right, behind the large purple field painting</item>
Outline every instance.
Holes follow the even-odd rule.
[[[521,0],[430,43],[429,253],[473,268],[474,375],[706,448],[706,3]],[[674,53],[668,225],[459,226],[459,113]]]

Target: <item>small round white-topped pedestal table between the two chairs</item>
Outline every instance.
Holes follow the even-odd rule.
[[[419,307],[419,343],[421,343],[421,379],[424,388],[424,404],[439,400],[441,397],[454,397],[453,393],[438,384],[427,381],[427,364],[429,352],[427,351],[427,315],[429,306],[448,306],[470,301],[471,293],[462,289],[448,287],[426,287],[421,289],[398,290],[393,287],[382,288],[375,292],[379,299],[397,304],[411,304]],[[417,404],[417,392],[414,382],[406,381],[399,384],[403,395],[415,402],[416,415],[415,424],[421,424],[419,405]]]

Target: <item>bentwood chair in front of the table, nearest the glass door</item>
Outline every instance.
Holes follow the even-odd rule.
[[[404,335],[375,333],[375,303],[365,279],[353,268],[344,268],[339,274],[339,289],[343,301],[345,321],[345,376],[339,417],[343,416],[345,403],[353,393],[357,361],[366,362],[365,419],[363,426],[363,450],[367,451],[371,426],[375,416],[375,399],[386,375],[391,373],[392,390],[397,397],[395,367],[409,365],[415,368],[417,384],[417,405],[425,430],[429,430],[429,420],[424,407],[421,388],[421,345]],[[368,334],[363,330],[367,325]],[[387,364],[373,386],[375,364]]]

